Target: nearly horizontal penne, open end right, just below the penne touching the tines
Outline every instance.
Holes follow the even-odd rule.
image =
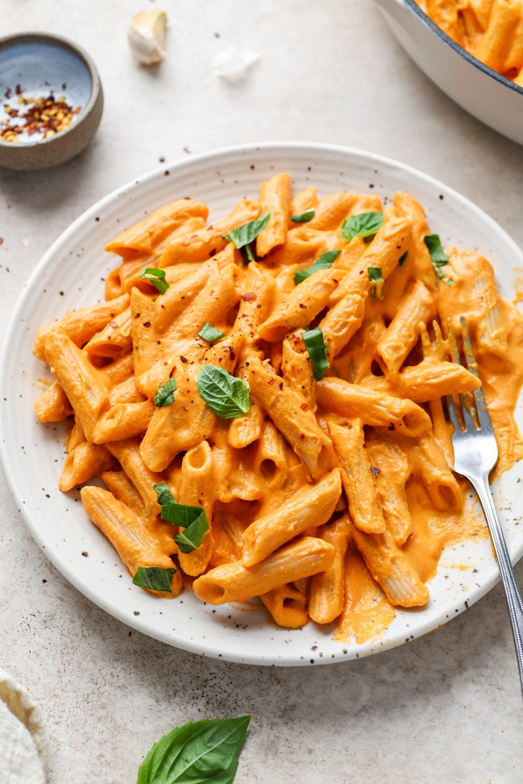
[[[332,377],[318,381],[316,400],[326,411],[361,419],[365,425],[398,430],[413,438],[430,430],[430,416],[416,403],[343,379]]]

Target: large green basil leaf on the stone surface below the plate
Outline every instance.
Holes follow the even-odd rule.
[[[175,727],[151,748],[136,784],[232,784],[250,716]]]

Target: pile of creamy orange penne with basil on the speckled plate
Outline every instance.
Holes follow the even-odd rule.
[[[467,316],[501,472],[523,456],[523,318],[403,192],[385,209],[292,197],[280,174],[207,216],[181,199],[125,230],[104,303],[38,330],[55,380],[35,412],[67,426],[60,489],[84,485],[160,597],[260,597],[281,626],[362,639],[427,604],[445,544],[485,535],[451,469],[442,398],[479,382],[449,330]]]

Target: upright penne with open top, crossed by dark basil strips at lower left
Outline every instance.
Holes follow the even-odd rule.
[[[178,556],[180,567],[186,575],[196,576],[205,572],[212,554],[214,539],[212,538],[212,504],[214,503],[214,477],[212,468],[211,448],[207,441],[189,449],[182,460],[182,476],[178,503],[187,506],[201,506],[209,523],[209,532],[202,544],[191,553]]]

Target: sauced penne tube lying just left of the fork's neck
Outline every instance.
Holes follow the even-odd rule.
[[[405,452],[412,466],[412,474],[423,481],[436,509],[462,510],[465,496],[432,430],[416,439],[397,437],[394,434],[394,441],[397,441]]]

